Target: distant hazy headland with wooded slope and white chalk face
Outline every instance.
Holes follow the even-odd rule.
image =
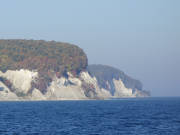
[[[119,69],[106,65],[89,65],[89,74],[97,79],[99,87],[106,89],[112,97],[147,97],[148,91],[143,90],[142,83],[133,79]]]

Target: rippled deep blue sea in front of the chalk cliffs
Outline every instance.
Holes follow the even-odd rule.
[[[180,98],[0,102],[2,135],[180,135]]]

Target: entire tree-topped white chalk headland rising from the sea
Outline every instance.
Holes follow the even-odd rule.
[[[0,40],[0,100],[145,97],[123,72],[88,66],[83,50],[55,41]]]

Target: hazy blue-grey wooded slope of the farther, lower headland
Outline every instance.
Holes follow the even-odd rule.
[[[148,92],[143,91],[142,83],[139,80],[131,78],[119,69],[106,65],[89,65],[87,70],[92,77],[97,78],[100,88],[109,90],[112,95],[115,94],[117,89],[115,81],[119,80],[127,89],[132,89],[133,93],[138,90],[147,96],[149,95]]]

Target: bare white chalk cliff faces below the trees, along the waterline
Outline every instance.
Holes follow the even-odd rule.
[[[0,77],[9,80],[13,88],[8,88],[0,81],[0,100],[87,100],[147,96],[140,90],[133,92],[132,89],[126,88],[121,79],[113,79],[115,92],[111,94],[109,90],[101,88],[97,79],[88,72],[81,72],[79,77],[74,77],[71,73],[68,73],[68,77],[54,76],[44,94],[38,89],[29,93],[31,82],[38,77],[35,71],[8,70],[5,73],[0,72]]]

